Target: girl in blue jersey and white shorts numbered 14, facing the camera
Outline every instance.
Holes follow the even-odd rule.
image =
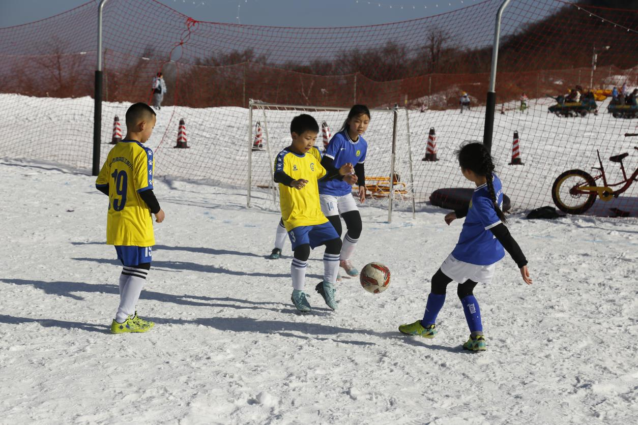
[[[359,208],[352,196],[352,184],[359,185],[358,197],[363,203],[366,200],[366,172],[364,162],[367,154],[367,141],[363,138],[367,126],[370,124],[370,110],[363,104],[355,104],[350,108],[348,118],[341,130],[332,136],[323,154],[323,168],[339,168],[348,162],[355,164],[355,175],[341,179],[319,182],[319,198],[323,215],[334,226],[341,236],[341,218],[346,222],[346,235],[343,237],[343,247],[339,256],[339,265],[350,276],[359,275],[359,271],[352,265],[352,254],[361,234],[362,224]]]

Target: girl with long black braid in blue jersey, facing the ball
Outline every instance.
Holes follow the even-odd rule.
[[[521,270],[523,281],[531,285],[530,271],[523,251],[505,227],[507,220],[501,211],[503,190],[496,176],[491,155],[482,143],[471,142],[456,152],[463,176],[474,182],[470,205],[445,215],[449,225],[454,219],[466,217],[461,236],[456,247],[432,277],[432,288],[427,296],[426,312],[422,320],[399,326],[406,335],[420,335],[434,338],[436,335],[436,315],[445,303],[447,284],[459,282],[457,295],[461,299],[465,319],[470,327],[470,339],[463,348],[485,351],[483,325],[480,309],[473,289],[478,282],[489,284],[494,275],[494,266],[505,256],[505,250],[512,256]]]

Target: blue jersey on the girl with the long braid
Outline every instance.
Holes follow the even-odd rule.
[[[496,175],[492,183],[496,193],[496,203],[503,208],[503,186]],[[500,261],[505,256],[503,245],[496,240],[496,236],[489,231],[501,223],[496,215],[494,203],[487,191],[487,184],[480,185],[474,190],[470,201],[470,209],[465,217],[461,236],[452,256],[465,263],[487,266]]]

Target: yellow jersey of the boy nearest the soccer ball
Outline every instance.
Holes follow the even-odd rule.
[[[283,171],[293,180],[308,180],[308,184],[302,189],[279,184],[279,205],[286,231],[298,226],[314,226],[328,221],[319,204],[317,180],[326,173],[320,157],[316,148],[311,149],[311,154],[304,155],[295,154],[286,148],[277,155],[275,172]]]

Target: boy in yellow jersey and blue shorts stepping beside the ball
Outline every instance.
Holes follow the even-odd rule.
[[[290,265],[293,287],[291,299],[301,312],[310,311],[304,292],[306,266],[310,249],[319,245],[325,245],[323,281],[315,289],[332,310],[337,308],[334,283],[339,269],[341,238],[322,213],[317,180],[355,178],[348,176],[353,173],[352,164],[327,170],[316,157],[307,154],[315,145],[318,133],[319,125],[313,117],[307,114],[295,117],[290,123],[292,144],[279,152],[274,169],[274,181],[279,183],[281,219],[294,252]]]

